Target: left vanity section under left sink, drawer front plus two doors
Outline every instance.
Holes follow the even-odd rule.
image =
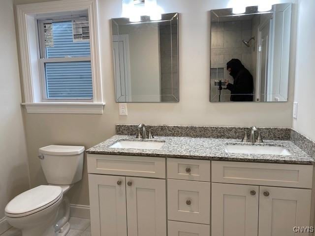
[[[165,158],[88,154],[88,171],[93,236],[166,236]]]

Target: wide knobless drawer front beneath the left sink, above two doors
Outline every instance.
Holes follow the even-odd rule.
[[[165,158],[88,154],[88,173],[165,178]]]

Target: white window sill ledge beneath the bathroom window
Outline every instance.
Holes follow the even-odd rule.
[[[22,103],[27,113],[103,114],[105,103],[93,102],[38,102]]]

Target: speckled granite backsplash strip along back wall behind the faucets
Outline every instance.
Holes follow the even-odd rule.
[[[116,125],[116,134],[136,135],[138,125]],[[250,134],[250,127],[229,126],[185,126],[185,125],[148,125],[147,130],[156,136],[192,137],[192,138],[215,138],[215,139],[241,139],[244,133],[238,130],[246,130]],[[261,134],[266,140],[290,140],[290,128],[258,128],[259,131],[268,131]]]

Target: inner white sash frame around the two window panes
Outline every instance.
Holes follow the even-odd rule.
[[[89,19],[89,16],[85,16]],[[40,84],[41,84],[41,101],[42,102],[93,102],[93,98],[48,98],[47,95],[47,80],[45,72],[45,63],[47,62],[72,62],[72,61],[90,61],[90,57],[71,57],[71,58],[47,58],[46,47],[45,47],[45,36],[44,36],[44,24],[45,23],[54,23],[54,22],[65,22],[79,20],[82,17],[79,16],[64,16],[64,17],[52,17],[49,20],[37,19],[37,28],[38,28],[38,38],[39,38],[39,67],[40,67]],[[91,47],[90,47],[91,53]],[[91,64],[92,65],[92,64]],[[92,70],[92,68],[91,68]],[[94,94],[93,94],[94,96]]]

